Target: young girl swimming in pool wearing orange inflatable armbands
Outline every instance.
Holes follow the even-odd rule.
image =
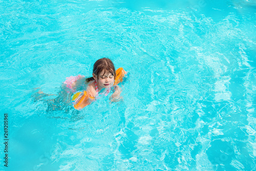
[[[100,96],[108,95],[111,89],[115,90],[111,96],[111,101],[117,101],[121,93],[117,84],[122,82],[125,74],[123,68],[115,71],[114,64],[109,58],[101,58],[94,63],[92,77],[85,79],[81,75],[71,76],[67,78],[64,84],[68,90],[75,92],[72,96],[72,103],[75,109],[81,110]],[[86,82],[88,86],[84,91]],[[83,89],[83,91],[76,92],[78,89]]]

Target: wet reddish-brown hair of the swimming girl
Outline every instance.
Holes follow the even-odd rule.
[[[114,63],[109,58],[101,58],[94,63],[93,73],[97,75],[97,80],[99,79],[99,74],[102,71],[104,71],[103,75],[111,73],[112,75],[114,75],[114,79],[116,78],[116,70]],[[91,80],[94,80],[94,78],[90,77],[86,79],[87,82]]]

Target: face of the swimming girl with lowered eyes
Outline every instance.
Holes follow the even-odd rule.
[[[99,79],[97,80],[97,84],[98,84],[98,87],[101,87],[101,89],[102,88],[109,88],[109,87],[113,86],[113,84],[114,84],[114,75],[112,75],[111,73],[107,74],[107,72],[104,74],[104,71],[102,71],[99,74]]]

